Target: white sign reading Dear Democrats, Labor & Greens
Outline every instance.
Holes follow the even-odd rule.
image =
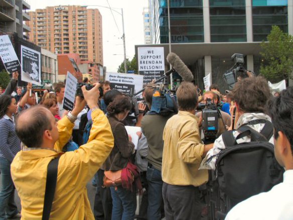
[[[117,89],[122,93],[134,94],[142,89],[142,75],[129,73],[107,72],[106,80],[110,82],[111,89]]]

